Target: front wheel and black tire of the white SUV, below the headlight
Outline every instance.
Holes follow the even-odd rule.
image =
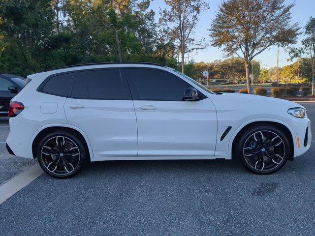
[[[284,166],[291,149],[284,131],[272,125],[256,125],[240,135],[235,154],[247,170],[266,175]]]

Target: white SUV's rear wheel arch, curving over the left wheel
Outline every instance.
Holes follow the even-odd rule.
[[[69,125],[69,124],[49,124],[40,127],[36,133],[32,136],[30,141],[30,155],[32,158],[36,158],[36,145],[39,143],[40,138],[44,135],[51,133],[53,131],[68,131],[75,134],[78,138],[83,141],[83,144],[86,146],[88,154],[93,157],[93,150],[91,143],[87,137],[87,135],[78,127]]]

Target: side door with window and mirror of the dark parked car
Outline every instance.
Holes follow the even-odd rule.
[[[14,86],[9,80],[0,77],[0,115],[6,115],[9,111],[10,100],[17,94],[8,88]]]

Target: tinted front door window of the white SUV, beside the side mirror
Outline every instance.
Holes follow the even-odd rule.
[[[182,101],[189,88],[180,78],[161,70],[127,69],[127,76],[141,100]]]

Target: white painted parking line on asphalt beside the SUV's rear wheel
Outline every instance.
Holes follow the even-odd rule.
[[[34,179],[43,174],[38,164],[32,165],[28,170],[0,185],[0,205],[20,191]]]

